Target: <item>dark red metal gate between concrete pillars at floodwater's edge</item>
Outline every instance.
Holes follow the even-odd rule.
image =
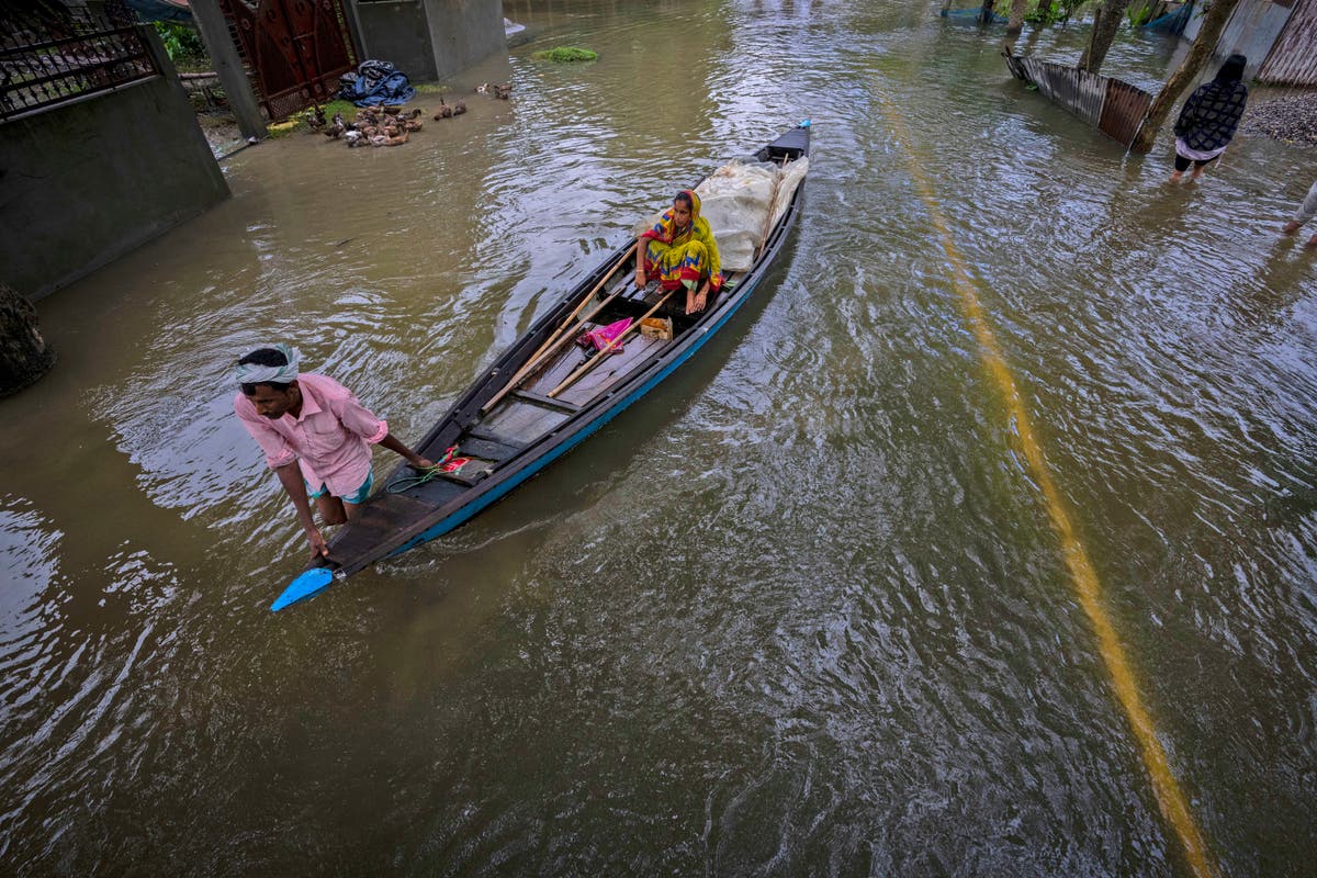
[[[338,91],[356,68],[342,0],[220,0],[271,121]]]

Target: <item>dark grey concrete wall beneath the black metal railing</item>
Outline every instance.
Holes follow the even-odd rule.
[[[150,45],[163,54],[154,34]],[[0,280],[40,299],[228,197],[167,59],[162,68],[0,122]]]

